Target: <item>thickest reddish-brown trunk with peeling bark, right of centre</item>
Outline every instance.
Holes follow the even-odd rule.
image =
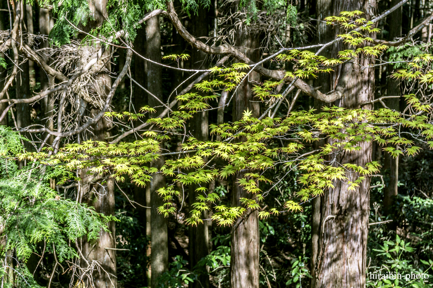
[[[376,9],[375,0],[343,1],[333,3],[333,14],[341,11],[361,10],[365,18],[371,19]],[[339,34],[338,31],[336,31]],[[343,44],[334,45],[331,53],[348,49]],[[355,60],[362,66],[372,64],[372,60]],[[356,65],[358,67],[358,65]],[[356,108],[360,103],[374,98],[374,68],[355,70],[352,62],[336,69],[337,89],[343,91],[339,106]],[[364,109],[371,109],[365,106]],[[332,141],[329,141],[332,144]],[[336,156],[340,164],[352,163],[364,166],[372,158],[372,144],[362,143],[359,152],[345,152]],[[330,157],[335,157],[331,155]],[[349,174],[349,181],[356,175]],[[335,181],[335,189],[325,190],[321,197],[321,215],[318,240],[318,255],[315,260],[313,288],[363,288],[367,256],[369,177],[355,191],[347,190],[346,182]]]

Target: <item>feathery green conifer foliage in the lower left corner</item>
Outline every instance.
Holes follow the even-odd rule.
[[[23,151],[23,140],[26,139],[10,128],[0,126],[1,258],[9,253],[2,261],[0,276],[6,287],[13,285],[8,277],[10,269],[23,279],[21,285],[33,286],[31,283],[35,282],[25,263],[36,252],[38,243],[45,242],[46,251],[56,253],[60,262],[79,257],[74,248],[76,241],[82,237],[98,238],[101,228],[108,231],[107,222],[115,220],[87,204],[64,199],[49,187],[51,178],[72,176],[65,166],[31,161],[18,170],[14,156]],[[16,267],[8,264],[10,257],[15,259]]]

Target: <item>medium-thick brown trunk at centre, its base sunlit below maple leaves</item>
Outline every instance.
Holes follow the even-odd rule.
[[[259,39],[252,35],[249,29],[242,27],[239,32],[237,46],[253,61],[259,60]],[[248,33],[248,34],[247,34]],[[249,109],[253,117],[259,117],[260,106],[254,101],[252,87],[260,81],[260,76],[252,72],[249,78],[242,82],[233,98],[233,121],[240,120],[242,113]],[[245,172],[236,173],[232,191],[232,206],[241,206],[239,198],[252,198],[236,182],[245,177]],[[259,288],[259,222],[258,211],[248,209],[242,218],[238,218],[232,227],[230,277],[232,288]]]

